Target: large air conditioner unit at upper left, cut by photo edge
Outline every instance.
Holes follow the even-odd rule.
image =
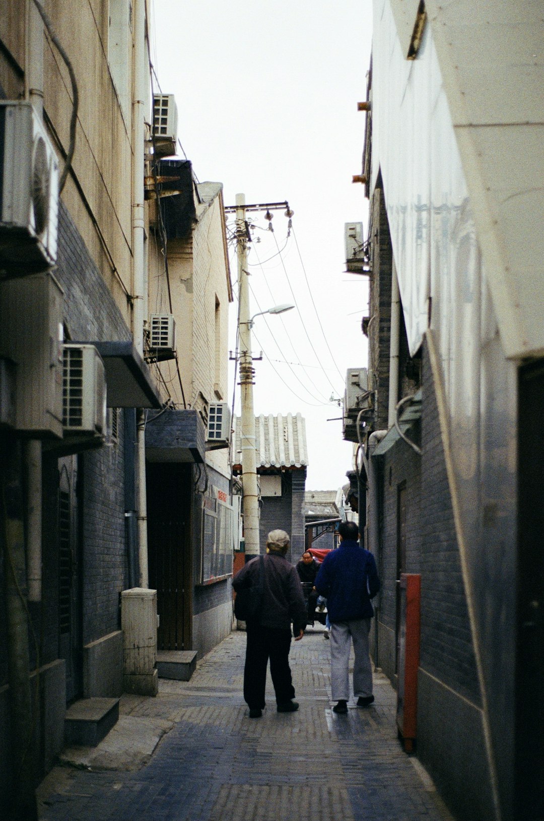
[[[0,100],[0,268],[36,273],[57,260],[58,161],[25,101]]]

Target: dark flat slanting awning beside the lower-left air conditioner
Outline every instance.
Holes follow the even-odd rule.
[[[102,356],[106,369],[107,406],[160,408],[161,397],[149,366],[132,342],[89,342]]]

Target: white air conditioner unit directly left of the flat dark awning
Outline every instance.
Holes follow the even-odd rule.
[[[106,433],[106,371],[94,345],[63,347],[62,427],[64,435]]]

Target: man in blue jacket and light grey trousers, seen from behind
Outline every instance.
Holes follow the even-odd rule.
[[[351,641],[355,664],[354,695],[357,706],[373,703],[373,672],[368,655],[370,620],[374,615],[371,599],[380,589],[372,553],[359,547],[359,528],[343,521],[338,528],[340,547],[325,557],[315,580],[318,593],[327,598],[331,621],[331,690],[335,713],[348,712]]]

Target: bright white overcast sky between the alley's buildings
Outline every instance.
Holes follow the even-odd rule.
[[[288,240],[282,211],[273,234],[263,214],[249,214],[258,226],[252,314],[298,306],[255,319],[255,414],[300,412],[306,488],[336,489],[352,446],[341,421],[327,421],[341,416],[329,397],[342,396],[346,369],[367,365],[367,280],[345,273],[344,223],[363,222],[366,236],[368,203],[351,177],[361,172],[371,0],[154,0],[153,18],[153,65],[162,92],[176,95],[178,136],[199,181],[222,182],[226,205],[244,193],[247,203],[288,200],[295,212]],[[236,290],[234,246],[231,275]],[[234,350],[237,301],[231,308]]]

